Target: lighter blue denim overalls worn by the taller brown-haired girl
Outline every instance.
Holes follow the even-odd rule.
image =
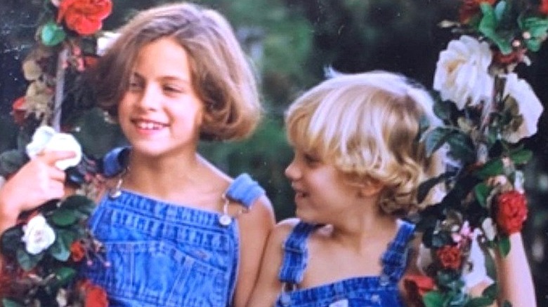
[[[105,166],[112,163],[107,156]],[[226,196],[249,208],[263,193],[243,174]],[[106,290],[111,307],[229,306],[240,242],[237,222],[223,217],[131,191],[105,196],[89,221],[105,259],[96,257],[84,273]]]

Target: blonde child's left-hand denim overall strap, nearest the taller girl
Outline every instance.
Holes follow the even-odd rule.
[[[304,271],[308,264],[306,239],[315,228],[318,228],[318,225],[307,224],[301,221],[299,224],[296,224],[293,231],[287,236],[283,245],[282,267],[278,274],[280,282],[297,285],[303,280]]]

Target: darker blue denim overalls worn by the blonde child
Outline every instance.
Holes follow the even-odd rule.
[[[318,226],[300,222],[285,240],[284,257],[278,278],[284,290],[276,305],[292,307],[366,307],[403,306],[398,281],[407,266],[408,243],[413,237],[415,225],[402,221],[396,238],[389,244],[381,259],[380,276],[364,276],[339,280],[327,285],[308,289],[286,290],[303,280],[308,262],[306,240]]]

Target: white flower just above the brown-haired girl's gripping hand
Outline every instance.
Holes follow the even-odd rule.
[[[68,133],[58,133],[53,128],[43,125],[32,135],[32,142],[27,144],[27,155],[34,158],[44,150],[74,151],[76,156],[56,162],[56,167],[66,170],[77,165],[81,160],[81,146],[74,136]]]

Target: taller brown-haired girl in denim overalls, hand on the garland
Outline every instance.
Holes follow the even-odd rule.
[[[131,147],[105,157],[111,175],[124,170],[90,221],[105,259],[92,259],[84,273],[110,306],[244,306],[273,210],[259,184],[228,177],[197,143],[254,130],[261,107],[252,69],[228,22],[194,4],[143,11],[120,33],[93,82]],[[6,182],[2,231],[23,210],[63,196],[65,175],[53,165],[68,156],[46,152]],[[20,199],[34,188],[25,175],[40,175],[47,194]]]

